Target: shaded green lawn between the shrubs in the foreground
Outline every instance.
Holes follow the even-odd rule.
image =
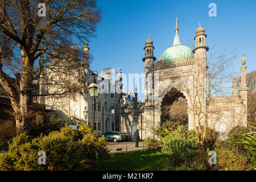
[[[98,170],[110,171],[144,171],[144,170],[162,170],[162,166],[168,160],[168,155],[158,154],[155,151],[140,150],[133,152],[124,152],[112,154],[108,160],[98,160]]]

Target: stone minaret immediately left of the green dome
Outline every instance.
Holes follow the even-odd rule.
[[[144,61],[144,74],[145,74],[145,105],[150,106],[152,104],[152,100],[150,96],[154,96],[154,64],[155,64],[155,56],[154,56],[154,46],[152,40],[148,35],[148,40],[145,42],[145,56],[143,57]]]

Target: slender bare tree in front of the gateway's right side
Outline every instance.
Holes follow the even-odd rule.
[[[227,90],[227,84],[232,83],[229,71],[234,57],[234,54],[227,56],[221,53],[217,56],[210,55],[207,61],[195,58],[193,66],[183,71],[184,76],[187,76],[186,83],[177,89],[187,95],[186,100],[191,106],[188,112],[192,114],[193,127],[202,143],[210,116],[221,114],[218,110],[210,109],[210,106],[214,96],[223,94]]]

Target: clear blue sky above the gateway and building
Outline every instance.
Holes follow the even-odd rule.
[[[209,3],[216,3],[217,16],[210,17]],[[241,75],[241,59],[245,54],[247,73],[256,68],[256,1],[152,1],[102,0],[98,2],[102,20],[96,38],[89,42],[94,57],[92,70],[121,68],[122,72],[143,73],[144,42],[148,34],[154,42],[154,56],[159,59],[175,36],[176,16],[179,20],[181,44],[195,46],[195,31],[205,28],[206,43],[213,52],[236,49],[233,72]],[[81,45],[82,46],[82,45]],[[211,49],[213,48],[214,49]],[[131,90],[132,92],[134,90]],[[143,95],[139,98],[144,100]]]

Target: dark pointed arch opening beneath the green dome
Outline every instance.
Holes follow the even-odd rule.
[[[183,93],[171,88],[163,97],[160,106],[160,123],[171,121],[181,122],[188,127],[188,104]]]

